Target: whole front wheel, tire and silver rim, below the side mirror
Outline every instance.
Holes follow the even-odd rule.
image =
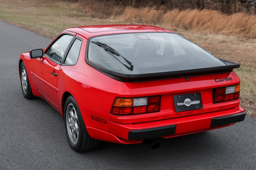
[[[20,65],[20,83],[21,83],[23,96],[27,99],[34,98],[34,95],[28,80],[28,73],[27,73],[24,62],[22,62]]]

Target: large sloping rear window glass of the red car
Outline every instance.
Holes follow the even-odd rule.
[[[97,45],[104,43],[120,55]],[[125,60],[132,63],[133,69]],[[88,60],[94,65],[122,74],[150,74],[225,64],[202,47],[176,33],[126,33],[93,37]]]

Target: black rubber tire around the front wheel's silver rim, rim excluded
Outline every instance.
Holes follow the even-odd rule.
[[[23,85],[22,85],[22,72],[23,72],[23,69],[25,70],[26,72],[26,82],[27,82],[27,85],[26,85],[26,90],[23,88]],[[30,83],[29,83],[29,80],[28,80],[28,73],[27,73],[27,69],[25,67],[25,64],[24,62],[22,61],[22,63],[20,64],[20,84],[21,84],[21,90],[22,90],[22,93],[23,93],[23,96],[26,98],[26,99],[33,99],[35,96],[32,92],[32,89],[31,89],[31,86],[30,86]]]

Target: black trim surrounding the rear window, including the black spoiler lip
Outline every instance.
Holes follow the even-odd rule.
[[[197,46],[201,47],[204,51],[207,53],[210,53],[214,57],[218,58],[221,60],[225,66],[218,66],[218,67],[208,67],[208,68],[197,68],[197,69],[190,69],[190,70],[179,70],[179,71],[169,71],[169,72],[160,72],[160,73],[146,73],[146,74],[124,74],[124,73],[119,73],[115,71],[111,71],[109,69],[100,67],[97,64],[94,64],[91,62],[88,58],[88,49],[89,45],[91,42],[92,38],[95,37],[100,37],[100,36],[107,36],[107,35],[116,35],[116,34],[132,34],[132,33],[149,33],[149,32],[126,32],[126,33],[113,33],[113,34],[104,34],[104,35],[97,35],[97,36],[92,36],[87,40],[86,44],[86,50],[85,50],[85,62],[95,68],[96,70],[100,71],[101,73],[117,80],[117,81],[122,81],[122,82],[139,82],[139,81],[152,81],[152,80],[161,80],[161,79],[171,79],[171,78],[180,78],[180,77],[190,77],[190,76],[195,76],[195,75],[207,75],[207,74],[216,74],[216,73],[227,73],[227,72],[232,72],[234,68],[239,68],[240,64],[233,62],[233,61],[228,61],[228,60],[223,60],[212,53],[208,52],[205,50],[203,47],[197,45],[196,43],[190,41],[189,39],[183,37],[182,35],[176,33],[176,32],[150,32],[150,33],[171,33],[171,34],[178,34],[182,36],[183,38],[187,39],[189,42],[196,44]]]

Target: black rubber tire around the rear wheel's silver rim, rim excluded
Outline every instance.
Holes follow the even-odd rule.
[[[75,109],[76,115],[77,115],[78,130],[79,130],[78,131],[77,143],[72,142],[72,139],[71,139],[72,137],[69,136],[69,132],[68,132],[68,131],[71,130],[71,128],[69,127],[69,123],[67,123],[67,117],[68,117],[67,116],[67,109],[68,109],[68,106],[73,107]],[[64,107],[64,126],[65,126],[65,130],[66,130],[66,135],[67,135],[67,138],[68,138],[68,143],[71,146],[71,148],[73,150],[75,150],[76,152],[92,151],[92,150],[95,150],[99,147],[100,141],[91,138],[91,136],[88,134],[88,132],[86,130],[86,127],[85,127],[85,124],[84,124],[84,120],[82,118],[81,111],[80,111],[80,109],[79,109],[79,107],[76,103],[76,100],[74,99],[73,96],[68,96],[68,98],[66,100],[66,103],[65,103],[65,107]]]

